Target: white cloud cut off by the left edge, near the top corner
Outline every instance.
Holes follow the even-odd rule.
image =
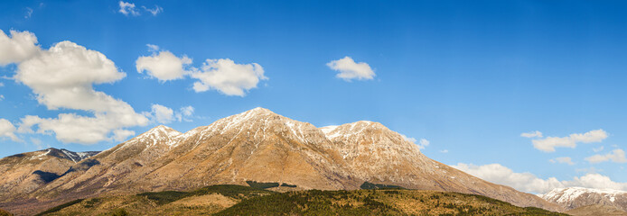
[[[29,31],[10,31],[11,37],[0,30],[0,66],[20,63],[39,52],[37,37]]]

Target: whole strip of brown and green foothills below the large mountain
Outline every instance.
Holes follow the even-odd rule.
[[[263,184],[268,185],[268,184]],[[375,186],[379,186],[376,185]],[[393,186],[393,185],[392,185]],[[480,195],[377,189],[276,193],[241,185],[68,202],[51,215],[566,215]]]

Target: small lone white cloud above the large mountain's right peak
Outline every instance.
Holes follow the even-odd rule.
[[[342,78],[345,81],[351,81],[352,79],[373,79],[374,76],[376,76],[368,63],[356,63],[350,57],[332,60],[331,62],[326,63],[326,66],[330,67],[332,70],[338,71],[339,73],[335,76]]]

